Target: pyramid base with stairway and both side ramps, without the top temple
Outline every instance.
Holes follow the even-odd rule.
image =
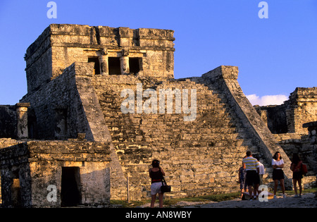
[[[189,106],[192,90],[196,90],[196,118],[184,121],[189,114],[176,113],[175,98],[173,113],[123,113],[120,106],[126,98],[121,92],[130,89],[135,93],[137,109],[137,84],[142,85],[142,93],[148,89],[188,90]],[[147,99],[142,97],[142,104]],[[94,75],[92,64],[76,62],[21,101],[30,102],[37,114],[41,136],[56,137],[56,119],[60,118],[54,111],[65,109],[66,137],[85,132],[87,140],[110,142],[113,199],[127,198],[127,177],[130,197],[148,198],[148,168],[153,159],[160,159],[166,170],[173,186],[170,195],[183,197],[238,190],[237,169],[249,149],[268,167],[268,178],[273,153],[283,154],[248,104],[237,83],[237,69],[232,67],[221,66],[201,78],[159,81],[136,75]],[[156,102],[159,107],[159,93]]]

